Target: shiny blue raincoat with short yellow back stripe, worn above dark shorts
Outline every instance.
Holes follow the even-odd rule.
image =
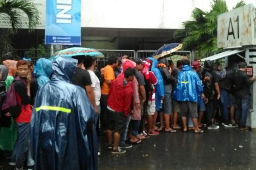
[[[198,102],[198,94],[203,92],[201,81],[195,71],[184,65],[178,75],[178,83],[174,90],[177,101]]]

